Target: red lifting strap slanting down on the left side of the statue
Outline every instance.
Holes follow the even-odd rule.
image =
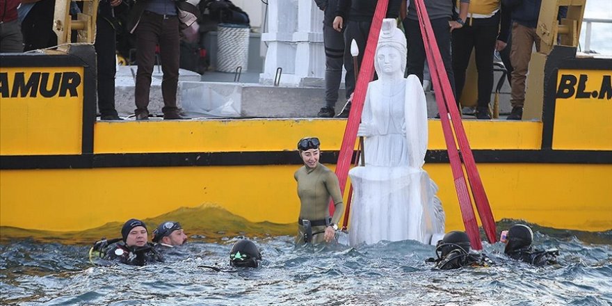
[[[363,60],[361,63],[361,69],[359,76],[357,77],[357,83],[355,84],[355,91],[353,92],[353,102],[351,102],[351,112],[348,114],[348,121],[346,122],[346,128],[344,129],[344,138],[342,138],[342,145],[340,147],[340,154],[338,156],[338,164],[336,165],[336,176],[340,182],[340,193],[344,196],[344,188],[346,187],[346,179],[348,177],[348,168],[351,167],[351,158],[353,157],[353,151],[355,150],[355,140],[357,140],[357,128],[361,121],[361,113],[363,110],[363,104],[366,99],[366,91],[368,83],[374,78],[374,54],[376,53],[376,45],[378,45],[378,34],[380,28],[383,26],[383,18],[387,15],[387,6],[389,0],[379,0],[376,5],[376,12],[372,19],[372,25],[370,26],[370,33],[368,35],[368,41],[366,43],[366,49],[364,51]],[[346,26],[346,20],[344,20],[344,26]],[[347,45],[346,48],[349,46]],[[335,206],[333,202],[330,202],[330,215],[334,215]],[[345,212],[348,214],[348,211]]]

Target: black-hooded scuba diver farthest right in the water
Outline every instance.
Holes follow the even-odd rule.
[[[499,240],[506,243],[504,253],[512,259],[524,261],[534,266],[557,263],[557,256],[559,255],[557,249],[536,250],[531,246],[533,232],[527,225],[513,225],[510,230],[501,232],[501,239]]]

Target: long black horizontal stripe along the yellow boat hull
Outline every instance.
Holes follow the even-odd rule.
[[[476,163],[612,164],[612,151],[473,150]],[[339,152],[321,152],[321,163],[335,164]],[[353,161],[355,156],[353,156]],[[449,163],[446,150],[429,150],[426,163]],[[0,169],[79,169],[184,166],[300,165],[297,152],[195,152],[0,156]]]

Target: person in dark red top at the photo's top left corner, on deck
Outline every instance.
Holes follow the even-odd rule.
[[[0,0],[0,53],[23,52],[24,38],[17,19],[21,0]]]

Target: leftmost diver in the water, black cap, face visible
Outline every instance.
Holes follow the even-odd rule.
[[[163,257],[148,241],[147,226],[143,221],[130,219],[121,228],[121,239],[102,239],[90,250],[90,260],[95,252],[99,257],[132,266],[144,266],[163,262]],[[123,241],[121,243],[120,241]]]

